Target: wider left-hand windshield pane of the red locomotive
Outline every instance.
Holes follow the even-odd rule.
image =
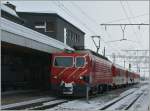
[[[56,57],[54,65],[57,67],[72,67],[73,57]]]

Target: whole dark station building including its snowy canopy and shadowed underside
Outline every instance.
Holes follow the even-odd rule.
[[[1,88],[49,89],[51,54],[84,48],[84,32],[49,13],[16,12],[1,5]]]

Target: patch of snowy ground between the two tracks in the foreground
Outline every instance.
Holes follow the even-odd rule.
[[[93,110],[96,110],[96,108],[98,108],[100,105],[106,103],[107,101],[115,97],[117,97],[117,95],[102,94],[98,97],[90,99],[89,103],[86,102],[86,99],[73,100],[73,101],[69,101],[67,103],[61,104],[55,108],[52,108],[50,109],[50,111],[54,111],[54,110],[63,110],[63,111],[64,110],[65,111],[69,111],[69,110],[91,111],[92,110],[93,111]]]

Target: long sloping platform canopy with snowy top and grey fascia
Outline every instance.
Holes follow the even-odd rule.
[[[9,21],[5,18],[1,17],[0,21],[2,42],[44,51],[46,53],[54,53],[64,49],[74,50],[58,40]]]

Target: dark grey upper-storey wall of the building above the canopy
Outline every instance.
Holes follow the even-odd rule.
[[[49,37],[52,37],[56,40],[64,42],[64,28],[66,28],[66,43],[70,47],[74,46],[82,46],[84,47],[84,33],[80,31],[78,28],[64,20],[63,18],[59,17],[57,14],[44,14],[44,13],[22,13],[19,12],[18,15],[24,19],[25,23],[28,26],[32,27],[34,30],[39,31]],[[38,23],[43,22],[47,24],[44,28],[37,29],[35,25]],[[50,26],[50,25],[52,26]],[[49,27],[50,26],[50,27]],[[50,29],[47,30],[47,29]],[[47,31],[46,31],[47,30]]]

